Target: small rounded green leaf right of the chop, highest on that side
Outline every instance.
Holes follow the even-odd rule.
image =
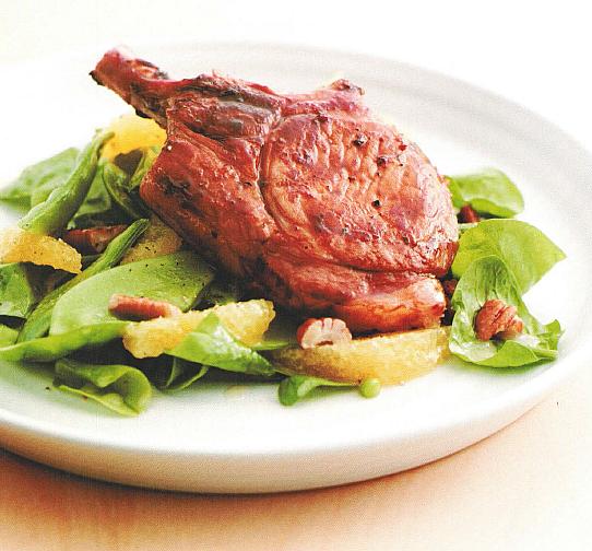
[[[452,203],[458,209],[469,203],[482,214],[499,218],[511,218],[524,210],[522,194],[497,168],[447,178]]]

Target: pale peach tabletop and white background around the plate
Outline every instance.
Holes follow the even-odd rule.
[[[413,5],[410,5],[413,4]],[[530,4],[530,5],[529,5]],[[167,39],[292,42],[379,54],[529,105],[589,149],[584,2],[226,0],[2,2],[0,63]],[[339,8],[338,8],[339,5]],[[532,9],[536,5],[536,11]],[[130,489],[0,450],[1,550],[592,549],[592,373],[519,421],[428,466],[261,496]]]

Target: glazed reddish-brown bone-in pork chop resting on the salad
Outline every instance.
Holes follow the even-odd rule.
[[[445,181],[339,80],[282,95],[202,74],[170,80],[110,50],[92,72],[167,131],[144,201],[201,254],[303,313],[357,332],[435,326],[457,250]]]

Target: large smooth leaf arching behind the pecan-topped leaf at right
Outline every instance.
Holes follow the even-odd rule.
[[[541,230],[518,220],[485,220],[460,238],[452,273],[460,278],[475,260],[497,256],[525,293],[566,256]]]

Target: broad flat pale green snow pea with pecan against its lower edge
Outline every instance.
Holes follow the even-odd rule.
[[[187,310],[213,276],[210,266],[189,250],[118,266],[64,293],[54,307],[49,332],[117,321],[108,310],[114,294],[168,301]]]

